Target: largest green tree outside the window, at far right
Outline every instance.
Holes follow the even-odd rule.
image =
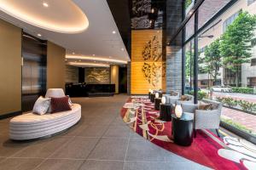
[[[251,42],[256,26],[256,15],[241,12],[236,20],[228,26],[221,37],[220,51],[224,57],[224,65],[236,73],[236,87],[238,87],[238,71],[243,63],[252,57]]]

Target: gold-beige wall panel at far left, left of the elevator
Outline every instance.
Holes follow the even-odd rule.
[[[0,115],[21,111],[21,29],[0,20]]]

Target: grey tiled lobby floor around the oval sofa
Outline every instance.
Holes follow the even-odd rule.
[[[126,95],[73,99],[82,119],[67,132],[33,142],[13,142],[0,121],[0,170],[207,169],[133,133],[119,111]]]

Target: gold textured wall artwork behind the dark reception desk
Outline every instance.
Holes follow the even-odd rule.
[[[109,68],[85,68],[85,82],[93,83],[110,83]]]

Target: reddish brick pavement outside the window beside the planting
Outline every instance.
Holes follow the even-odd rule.
[[[234,122],[238,122],[241,125],[252,129],[253,133],[256,133],[256,116],[226,107],[223,107],[222,109],[222,116],[224,116],[224,118],[230,118]]]

